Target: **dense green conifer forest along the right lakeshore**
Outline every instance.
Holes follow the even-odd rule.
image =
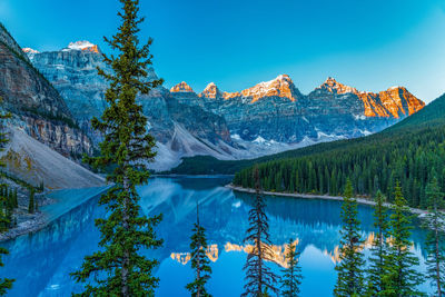
[[[445,189],[445,127],[427,127],[416,132],[392,133],[376,141],[297,158],[258,165],[267,191],[339,195],[346,180],[354,192],[374,196],[378,190],[394,201],[394,185],[412,207],[425,208],[426,185],[437,178]],[[234,184],[254,188],[253,167],[235,175]]]

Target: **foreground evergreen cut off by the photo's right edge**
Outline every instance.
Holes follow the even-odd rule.
[[[444,194],[434,178],[426,188],[428,197],[428,210],[425,218],[428,234],[426,237],[426,265],[428,278],[436,289],[436,296],[445,296],[445,215],[441,211],[444,208]]]

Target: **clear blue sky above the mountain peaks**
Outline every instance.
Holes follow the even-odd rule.
[[[289,75],[308,93],[326,77],[359,90],[445,92],[445,0],[140,0],[155,69],[171,87],[241,90]],[[22,47],[57,50],[116,30],[117,0],[0,0]]]

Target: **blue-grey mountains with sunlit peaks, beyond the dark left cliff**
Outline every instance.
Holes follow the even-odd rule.
[[[102,62],[100,49],[78,41],[59,51],[26,48],[23,52],[59,91],[82,131],[97,145],[100,136],[91,130],[89,121],[106,108],[108,83],[96,68],[111,71]],[[157,76],[150,69],[147,79],[154,78]],[[425,106],[403,87],[364,92],[334,78],[303,95],[286,75],[237,92],[221,91],[211,82],[197,93],[180,82],[170,90],[154,89],[138,100],[158,141],[157,170],[175,167],[184,157],[249,159],[366,136]]]

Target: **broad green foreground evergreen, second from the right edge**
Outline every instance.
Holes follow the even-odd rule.
[[[384,296],[418,296],[417,286],[423,283],[422,274],[416,271],[418,258],[411,251],[411,216],[399,182],[394,191],[393,214],[389,220],[390,245],[386,256],[387,271],[384,276]]]

